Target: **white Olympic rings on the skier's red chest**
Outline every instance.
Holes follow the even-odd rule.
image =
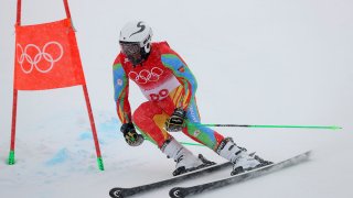
[[[162,74],[163,70],[161,68],[153,67],[151,70],[142,69],[139,74],[130,72],[129,77],[138,84],[147,84],[149,81],[158,81]]]

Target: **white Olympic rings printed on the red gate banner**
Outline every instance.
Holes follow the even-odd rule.
[[[47,47],[51,46],[51,45],[52,46],[56,46],[58,48],[58,51],[60,51],[58,56],[55,57],[55,58],[52,56],[52,54],[47,53]],[[20,44],[17,44],[17,47],[19,50],[18,52],[21,52],[21,55],[18,56],[18,62],[21,65],[22,72],[25,73],[25,74],[30,74],[33,70],[33,68],[35,68],[40,73],[49,73],[54,67],[54,64],[56,62],[58,62],[64,55],[63,46],[60,43],[54,42],[54,41],[53,42],[47,42],[43,46],[42,50],[39,46],[34,45],[34,44],[28,44],[24,47],[24,50],[23,50],[22,45],[20,45]],[[34,57],[29,55],[28,52],[29,52],[30,48],[34,48],[34,51],[36,53]],[[50,63],[50,66],[47,68],[41,68],[39,66],[39,63],[42,59],[45,59],[46,62]],[[25,61],[31,65],[30,68],[24,68],[23,67],[23,64],[24,64]]]

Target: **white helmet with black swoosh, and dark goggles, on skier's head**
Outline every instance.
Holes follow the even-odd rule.
[[[143,21],[128,22],[120,31],[122,53],[132,65],[146,61],[151,51],[152,29]]]

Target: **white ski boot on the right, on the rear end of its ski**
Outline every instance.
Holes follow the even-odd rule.
[[[237,175],[271,164],[254,154],[248,154],[246,148],[237,146],[232,138],[225,138],[218,148],[217,154],[233,163],[231,175]]]

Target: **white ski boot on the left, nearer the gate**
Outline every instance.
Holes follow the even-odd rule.
[[[167,140],[161,147],[161,151],[167,155],[168,158],[173,158],[174,162],[176,162],[173,176],[193,172],[195,169],[212,166],[215,164],[214,162],[207,161],[201,154],[199,155],[199,157],[196,157],[174,139]]]

